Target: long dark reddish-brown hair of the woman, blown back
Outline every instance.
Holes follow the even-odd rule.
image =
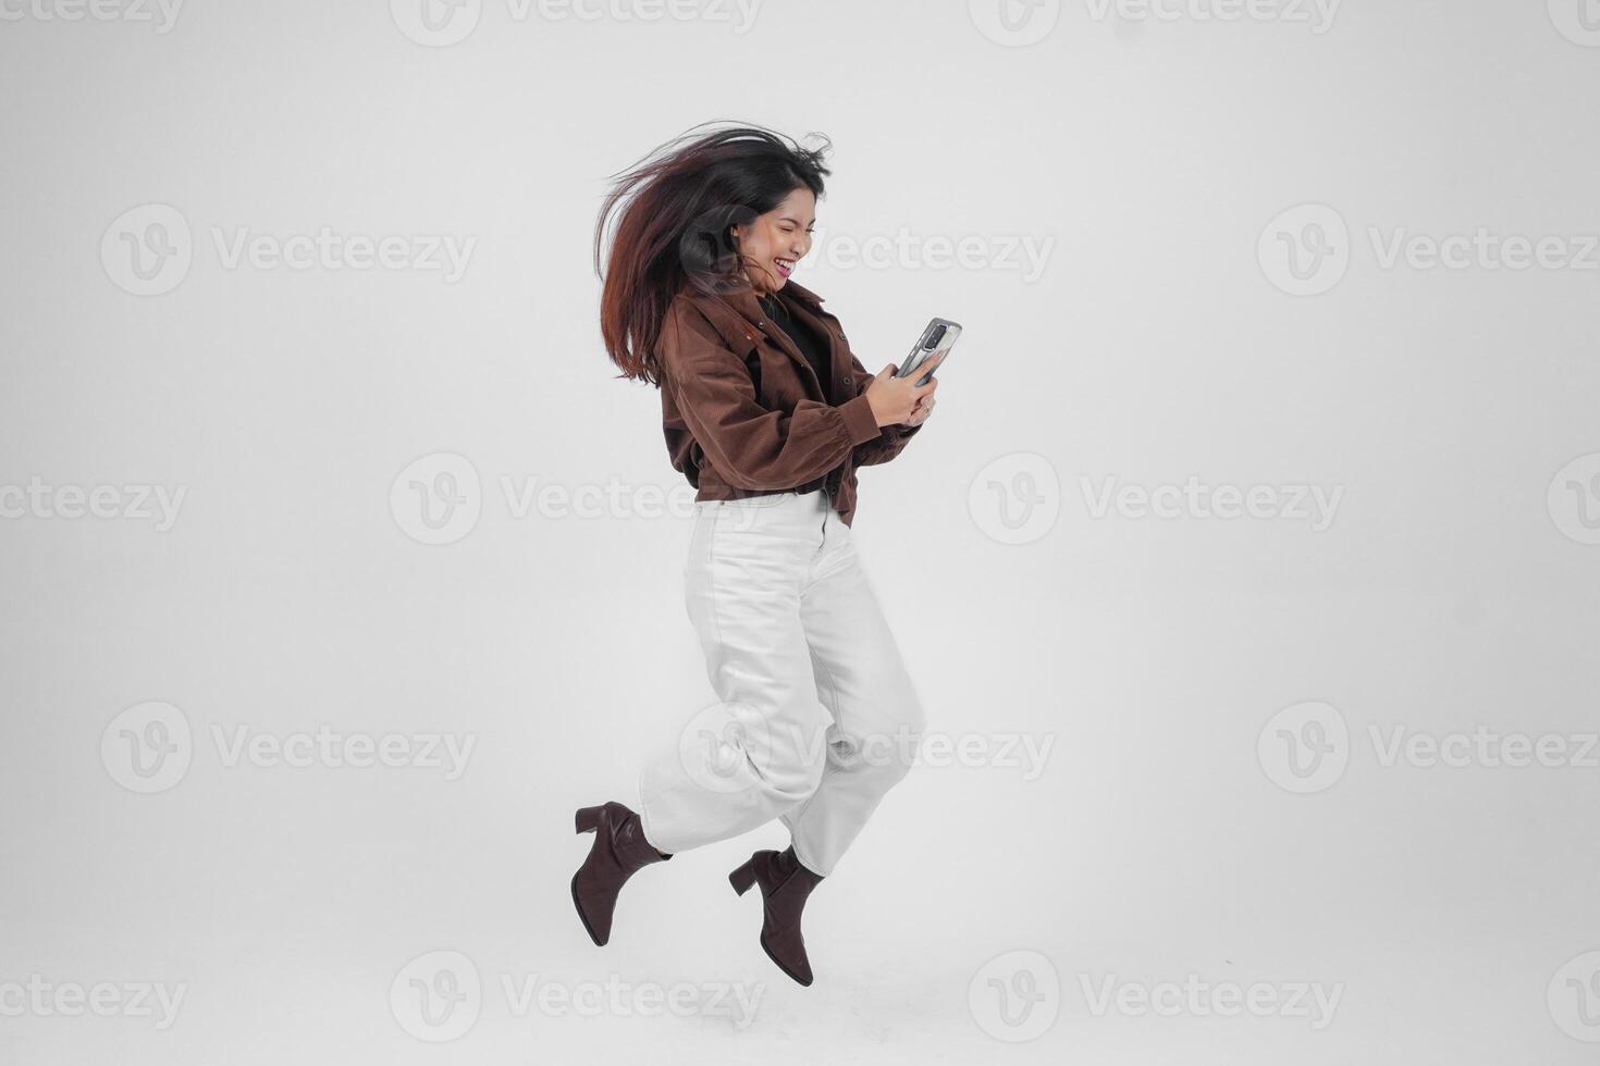
[[[614,174],[600,208],[600,336],[621,377],[661,384],[653,348],[667,305],[685,284],[715,296],[749,288],[734,225],[749,225],[795,189],[822,195],[827,137],[811,134],[821,145],[805,149],[763,126],[701,133],[707,125],[720,123],[694,126]]]

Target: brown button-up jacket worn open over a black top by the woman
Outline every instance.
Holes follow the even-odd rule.
[[[752,292],[683,289],[656,340],[667,454],[696,500],[822,489],[848,526],[856,467],[894,459],[922,425],[878,427],[866,396],[872,374],[821,296],[787,281],[778,299],[827,339],[829,388]]]

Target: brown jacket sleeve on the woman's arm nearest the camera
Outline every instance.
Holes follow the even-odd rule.
[[[837,408],[816,400],[802,400],[789,414],[763,408],[744,360],[683,304],[667,312],[656,355],[685,425],[731,486],[805,484],[838,467],[856,444],[880,436],[872,406],[859,393]]]

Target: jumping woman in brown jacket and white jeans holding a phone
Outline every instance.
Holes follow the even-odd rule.
[[[640,774],[638,813],[584,807],[595,833],[573,903],[597,945],[650,863],[781,818],[782,852],[730,874],[760,885],[760,943],[800,984],[806,897],[910,767],[923,711],[850,540],[856,467],[888,462],[938,382],[869,376],[822,299],[789,280],[811,248],[827,142],[691,129],[624,173],[595,229],[600,328],[622,376],[661,390],[694,497],[685,603],[726,721]],[[699,743],[704,737],[706,743]]]

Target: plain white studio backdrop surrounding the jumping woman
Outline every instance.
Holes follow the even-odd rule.
[[[0,5],[0,1060],[1592,1061],[1597,753],[1381,758],[1395,730],[1576,756],[1597,729],[1600,32],[1579,0],[1349,0],[1331,22],[1014,3],[1014,35],[992,0],[766,0],[747,26],[731,3],[485,0],[451,45],[418,3],[194,0],[168,32],[158,8]],[[654,390],[600,348],[590,235],[608,174],[715,118],[832,139],[797,280],[870,369],[930,315],[965,324],[928,428],[862,471],[856,540],[931,729],[1051,745],[1037,774],[912,772],[813,897],[810,989],[723,881],[778,825],[643,871],[589,943],[573,809],[632,802],[710,700],[690,523],[518,516],[502,481],[682,503]],[[152,216],[118,222],[144,205],[181,216],[190,261],[147,296],[123,235],[157,237]],[[1275,222],[1301,205],[1323,206]],[[1272,249],[1330,217],[1325,291],[1285,291]],[[323,227],[474,243],[453,281],[226,254]],[[1478,230],[1579,264],[1384,259]],[[902,233],[987,259],[829,254]],[[1006,265],[1018,241],[1048,243],[1037,276]],[[437,454],[477,473],[478,516],[427,545],[390,487]],[[1094,507],[1109,478],[1190,476],[1341,495],[1320,531]],[[35,479],[184,497],[157,529],[18,507]],[[181,711],[190,762],[139,794],[114,719],[149,702]],[[1344,769],[1296,793],[1269,722],[1307,702],[1346,726]],[[240,729],[322,726],[475,746],[458,780],[227,758]],[[434,951],[483,986],[443,1044],[408,1031],[405,981],[390,996]],[[16,1010],[5,988],[34,975],[186,999],[166,1029]],[[1338,989],[1338,1010],[1096,1013],[1085,992],[1190,975]],[[518,1013],[502,978],[760,1005],[742,1028]],[[1002,1002],[1029,980],[1042,999]],[[1024,1008],[1040,1034],[1016,1042]]]

